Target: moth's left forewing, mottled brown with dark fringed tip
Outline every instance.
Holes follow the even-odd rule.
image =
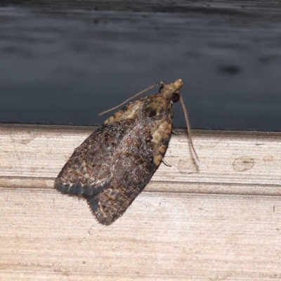
[[[109,188],[120,140],[128,135],[135,122],[133,115],[126,111],[128,107],[137,109],[140,105],[138,101],[127,105],[86,138],[58,174],[55,188],[69,195],[96,195]]]

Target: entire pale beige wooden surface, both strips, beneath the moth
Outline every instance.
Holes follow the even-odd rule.
[[[101,226],[53,180],[91,133],[0,126],[0,280],[280,280],[281,133],[184,131],[122,218]]]

